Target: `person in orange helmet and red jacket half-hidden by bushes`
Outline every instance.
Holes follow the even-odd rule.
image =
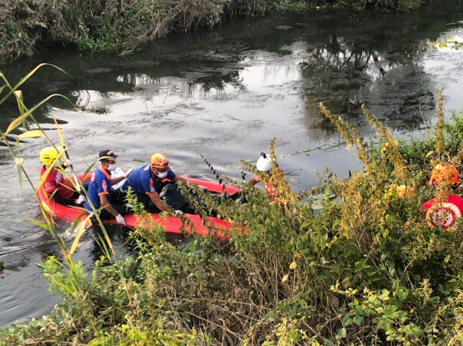
[[[449,163],[440,163],[433,168],[428,184],[450,184],[454,189],[454,184],[459,182],[457,169]],[[426,220],[433,227],[440,225],[443,229],[453,229],[456,220],[463,214],[463,198],[449,194],[442,201],[430,199],[424,202],[421,208],[426,213]]]

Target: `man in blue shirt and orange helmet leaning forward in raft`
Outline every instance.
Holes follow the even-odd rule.
[[[122,192],[127,192],[131,187],[137,196],[138,201],[144,204],[145,209],[150,212],[167,211],[166,203],[159,198],[163,180],[169,179],[174,183],[186,184],[186,180],[177,176],[169,168],[169,160],[166,155],[156,153],[151,157],[151,163],[138,167],[134,170],[130,179],[127,179],[121,186]],[[182,215],[182,211],[176,210],[175,215]]]

